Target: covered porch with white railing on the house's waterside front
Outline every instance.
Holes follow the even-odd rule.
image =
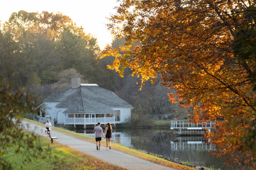
[[[64,125],[116,124],[120,117],[116,113],[64,114]]]

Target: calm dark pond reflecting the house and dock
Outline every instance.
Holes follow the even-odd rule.
[[[95,137],[92,129],[77,128],[74,131]],[[176,137],[171,130],[162,129],[113,129],[112,142],[163,155],[179,162],[188,160],[195,166],[230,169],[224,166],[223,158],[217,158],[210,153],[214,152],[215,146],[207,145],[202,137]]]

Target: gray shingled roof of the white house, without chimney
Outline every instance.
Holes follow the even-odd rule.
[[[51,94],[44,102],[60,102],[63,113],[115,113],[110,107],[132,107],[112,91],[99,86],[80,86]]]

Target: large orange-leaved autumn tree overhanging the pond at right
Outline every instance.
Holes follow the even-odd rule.
[[[121,76],[161,75],[172,102],[194,122],[216,121],[207,137],[218,156],[256,166],[256,6],[250,0],[120,0],[108,28],[126,45],[102,51]],[[138,41],[142,45],[132,45]],[[223,121],[218,121],[222,119]],[[229,164],[234,165],[234,164]]]

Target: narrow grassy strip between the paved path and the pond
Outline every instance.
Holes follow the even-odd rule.
[[[28,122],[31,122],[33,124],[39,125],[41,127],[45,127],[45,125],[43,123],[40,123],[40,122],[37,122],[37,121],[32,121],[30,119],[24,119],[24,120],[28,121]],[[75,132],[72,132],[72,131],[61,129],[61,128],[58,128],[58,127],[52,127],[52,130],[54,130],[56,132],[59,132],[59,133],[63,133],[65,135],[72,136],[74,138],[77,138],[77,139],[80,139],[80,140],[83,140],[83,141],[86,141],[86,142],[95,143],[95,139],[93,137],[89,137],[89,136],[86,136],[86,135],[82,135],[82,134],[79,134],[79,133],[75,133]],[[102,141],[102,143],[103,143],[102,145],[106,145],[106,141]],[[174,163],[174,162],[170,162],[168,160],[164,160],[162,158],[158,158],[157,156],[146,154],[146,153],[141,152],[139,150],[124,147],[123,145],[120,145],[120,144],[117,144],[117,143],[111,143],[111,148],[113,148],[115,150],[118,150],[120,152],[125,152],[127,154],[137,156],[139,158],[149,160],[151,162],[156,162],[158,164],[162,164],[162,165],[169,166],[169,167],[172,167],[172,168],[177,168],[177,169],[180,169],[180,170],[193,170],[194,169],[194,168],[190,168],[190,167],[180,165],[180,164],[177,164],[177,163]]]

